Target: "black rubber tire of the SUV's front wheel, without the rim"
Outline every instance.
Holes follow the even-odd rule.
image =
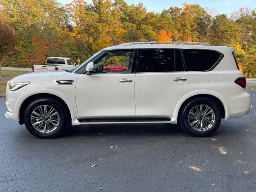
[[[53,107],[59,115],[60,120],[58,126],[56,126],[55,130],[49,133],[39,132],[38,130],[36,130],[34,126],[32,126],[32,122],[30,120],[33,110],[36,109],[38,106],[42,105]],[[68,109],[66,109],[66,107],[64,107],[63,104],[58,100],[53,98],[39,98],[31,102],[26,108],[24,113],[24,123],[27,130],[32,135],[38,138],[54,138],[56,136],[59,136],[60,133],[63,133],[64,130],[68,129],[71,126],[71,118]]]

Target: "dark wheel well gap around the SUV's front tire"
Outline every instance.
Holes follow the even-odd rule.
[[[54,98],[58,101],[60,101],[63,106],[67,109],[68,114],[70,116],[70,119],[72,119],[72,114],[71,114],[71,110],[70,107],[68,106],[68,104],[66,104],[66,102],[60,98],[59,96],[56,96],[54,94],[50,94],[50,93],[37,93],[37,94],[32,94],[30,96],[28,96],[20,105],[20,109],[19,109],[19,123],[22,125],[24,124],[24,120],[23,120],[23,116],[24,116],[24,112],[26,110],[26,107],[30,104],[30,102],[32,102],[33,100],[39,99],[39,98]]]

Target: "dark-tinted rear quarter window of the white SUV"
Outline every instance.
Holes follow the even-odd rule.
[[[186,71],[210,70],[222,57],[219,52],[213,50],[183,50]]]

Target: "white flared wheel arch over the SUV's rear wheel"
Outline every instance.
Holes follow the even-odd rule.
[[[178,116],[180,114],[180,109],[182,106],[193,98],[198,97],[206,97],[214,100],[221,111],[221,116],[224,120],[228,120],[230,118],[230,107],[227,100],[218,92],[210,91],[210,90],[198,90],[195,92],[189,92],[188,94],[184,95],[176,104],[174,108],[174,112],[172,114],[172,118],[174,118],[175,122],[178,120]],[[174,123],[175,123],[174,122]]]

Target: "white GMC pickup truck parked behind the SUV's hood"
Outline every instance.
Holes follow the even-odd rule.
[[[69,71],[75,68],[76,64],[70,58],[48,57],[45,64],[33,65],[33,72],[40,71]]]

